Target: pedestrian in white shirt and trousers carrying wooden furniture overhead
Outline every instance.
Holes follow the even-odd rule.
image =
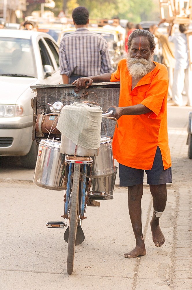
[[[169,31],[169,41],[175,45],[175,68],[173,72],[172,95],[174,105],[182,106],[182,92],[185,87],[187,95],[187,105],[192,106],[192,90],[191,90],[191,70],[189,69],[189,55],[187,37],[185,32],[188,29],[187,24],[179,25],[179,33],[172,36],[172,26]]]

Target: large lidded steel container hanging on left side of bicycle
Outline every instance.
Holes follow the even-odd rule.
[[[36,185],[52,190],[65,189],[65,155],[60,153],[60,146],[61,141],[56,141],[54,138],[41,140],[33,177]]]

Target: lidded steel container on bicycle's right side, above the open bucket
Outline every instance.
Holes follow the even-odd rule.
[[[93,158],[91,178],[110,176],[115,172],[112,139],[111,137],[101,137],[98,156]],[[87,177],[90,177],[90,166],[87,166]]]

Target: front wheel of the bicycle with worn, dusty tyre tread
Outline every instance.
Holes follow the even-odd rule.
[[[81,164],[74,164],[73,184],[70,205],[70,222],[69,222],[69,241],[67,255],[67,273],[71,274],[74,265],[75,239],[79,221],[79,178]]]

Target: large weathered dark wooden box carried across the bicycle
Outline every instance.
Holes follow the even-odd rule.
[[[72,84],[59,84],[59,85],[37,85],[31,86],[36,91],[36,98],[34,99],[33,106],[33,140],[40,142],[41,139],[47,138],[48,134],[44,136],[35,131],[36,115],[42,114],[46,110],[47,103],[53,104],[60,101],[64,105],[72,104],[73,102],[97,102],[105,112],[111,105],[118,106],[120,82],[107,82],[107,83],[93,83],[87,89],[87,96],[81,97],[86,93],[85,89],[81,89],[77,92],[76,86]],[[97,101],[98,98],[98,101]],[[115,121],[110,119],[104,119],[101,126],[101,135],[107,135],[113,137],[115,130]],[[105,125],[105,126],[104,126]],[[55,137],[55,135],[50,135]],[[60,136],[57,136],[58,138]]]

